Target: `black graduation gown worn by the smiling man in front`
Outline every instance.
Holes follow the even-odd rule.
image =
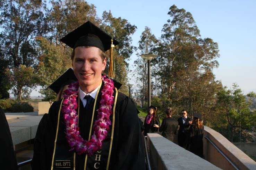
[[[101,89],[102,88],[103,83]],[[94,121],[97,119],[96,110],[99,108],[100,98],[99,92],[96,101]],[[79,131],[82,138],[88,140],[92,112],[88,113],[83,107],[82,101],[79,100],[79,102]],[[60,103],[61,101],[54,102],[49,109],[49,114],[45,114],[39,123],[34,141],[34,157],[31,163],[33,170],[51,169]],[[94,103],[94,101],[92,103]],[[93,106],[89,107],[92,109]],[[112,115],[110,116],[110,120],[112,122]],[[65,135],[64,130],[62,135]],[[111,131],[108,132],[107,137],[109,138],[109,136],[111,136]],[[76,170],[84,170],[85,154],[76,154],[75,158]],[[101,159],[104,159],[103,155]],[[95,168],[87,161],[86,170],[90,169]],[[98,169],[105,168],[100,167]],[[113,143],[109,169],[145,169],[145,152],[137,110],[133,101],[120,92],[118,92],[115,109]]]

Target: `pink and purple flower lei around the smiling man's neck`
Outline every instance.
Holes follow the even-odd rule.
[[[84,140],[79,132],[77,107],[78,102],[76,100],[78,94],[79,83],[75,82],[68,86],[68,89],[63,95],[64,100],[61,108],[61,112],[64,113],[63,119],[66,124],[65,134],[66,139],[71,149],[77,154],[86,153],[91,156],[95,151],[102,148],[102,141],[106,138],[109,125],[111,121],[109,116],[112,114],[112,105],[114,104],[114,83],[112,79],[106,78],[106,75],[102,76],[104,82],[103,89],[101,91],[100,108],[97,109],[99,113],[97,120],[93,125],[93,135],[89,141]]]

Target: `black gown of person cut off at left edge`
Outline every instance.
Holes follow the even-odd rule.
[[[11,132],[5,113],[0,107],[0,169],[18,170],[17,160],[11,139]]]

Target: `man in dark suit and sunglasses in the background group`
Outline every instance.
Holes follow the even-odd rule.
[[[179,123],[179,133],[178,133],[178,143],[179,146],[185,149],[188,149],[185,146],[185,140],[188,135],[189,126],[192,123],[191,119],[188,117],[188,113],[186,110],[181,111],[182,116],[178,119]]]

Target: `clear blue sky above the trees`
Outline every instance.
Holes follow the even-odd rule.
[[[214,69],[216,80],[228,87],[237,83],[244,93],[256,92],[256,1],[255,0],[87,0],[96,6],[97,15],[111,10],[113,17],[127,19],[137,26],[132,36],[138,46],[145,26],[157,38],[168,19],[169,8],[175,4],[190,12],[202,38],[212,38],[219,44],[219,68]],[[136,59],[132,56],[130,65]],[[132,69],[132,68],[131,68]],[[133,84],[131,80],[129,83]]]

